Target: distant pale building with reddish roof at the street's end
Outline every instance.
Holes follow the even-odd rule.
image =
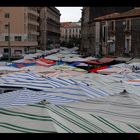
[[[80,22],[61,22],[61,42],[69,42],[71,38],[81,38]]]

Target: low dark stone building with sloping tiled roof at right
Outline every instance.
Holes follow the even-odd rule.
[[[140,58],[140,8],[99,17],[102,54]]]

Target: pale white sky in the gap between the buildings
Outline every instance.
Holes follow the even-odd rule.
[[[82,7],[56,7],[60,13],[60,22],[77,22],[81,18]]]

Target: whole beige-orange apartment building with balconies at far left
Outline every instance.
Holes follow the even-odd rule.
[[[38,18],[35,7],[0,7],[0,54],[17,58],[34,53],[38,46]]]

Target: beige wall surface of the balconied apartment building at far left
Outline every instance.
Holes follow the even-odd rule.
[[[38,46],[37,36],[37,26],[39,23],[28,19],[29,14],[39,17],[37,11],[34,11],[36,8],[29,7],[0,7],[0,53],[3,53],[3,48],[8,48],[8,41],[5,41],[5,36],[8,36],[8,29],[5,29],[5,25],[10,22],[10,48],[11,54],[14,53],[14,50],[22,50],[24,53],[24,48],[26,46]],[[5,18],[5,13],[9,13],[10,17]],[[36,30],[28,31],[28,25],[36,27]],[[30,34],[30,40],[29,40]],[[15,36],[21,36],[21,41],[15,41]],[[31,37],[34,37],[34,41]]]

